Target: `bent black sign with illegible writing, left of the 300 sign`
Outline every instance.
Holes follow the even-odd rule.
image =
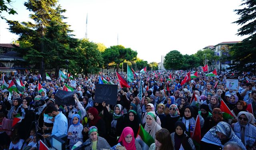
[[[68,92],[64,90],[58,90],[55,95],[55,104],[57,105],[66,105],[66,106],[75,106],[76,102],[73,98],[75,92]]]

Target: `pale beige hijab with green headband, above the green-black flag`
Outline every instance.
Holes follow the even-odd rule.
[[[146,114],[146,117],[147,116],[149,116],[152,119],[152,124],[147,124],[147,122],[146,122],[144,129],[154,139],[156,137],[156,132],[158,132],[158,130],[160,130],[162,127],[158,123],[156,123],[156,114],[154,111],[148,112]]]

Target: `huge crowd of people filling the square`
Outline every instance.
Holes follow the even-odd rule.
[[[142,150],[136,138],[141,125],[155,141],[148,146],[150,150],[254,150],[256,77],[239,74],[238,87],[231,90],[226,86],[228,74],[211,77],[201,72],[181,85],[186,75],[182,70],[150,71],[134,75],[130,88],[120,88],[115,73],[77,77],[74,106],[55,104],[56,92],[63,90],[65,83],[70,85],[70,80],[46,82],[35,75],[21,76],[24,92],[0,91],[0,149],[35,150],[39,145],[36,139],[51,146],[53,135],[67,134],[70,149],[89,142],[85,150]],[[125,73],[122,76],[127,78]],[[96,84],[102,77],[118,86],[116,105],[94,102]],[[38,82],[43,87],[40,92]],[[197,106],[190,104],[193,94]],[[234,118],[224,116],[221,102]],[[197,116],[199,144],[191,137]]]

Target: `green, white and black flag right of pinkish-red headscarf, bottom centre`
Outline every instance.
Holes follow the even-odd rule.
[[[142,150],[148,150],[150,145],[155,142],[154,138],[144,130],[141,124],[136,140],[140,143]]]

